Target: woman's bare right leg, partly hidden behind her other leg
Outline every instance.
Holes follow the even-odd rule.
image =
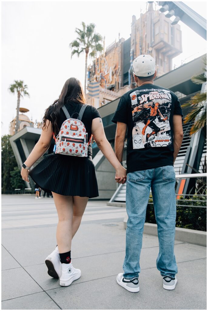
[[[79,229],[88,199],[88,197],[73,196],[72,238]]]

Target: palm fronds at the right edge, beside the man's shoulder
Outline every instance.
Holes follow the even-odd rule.
[[[203,84],[206,82],[206,57],[203,58],[203,63],[205,68],[203,68],[205,73],[200,75],[195,75],[192,77],[192,82],[195,84]],[[197,93],[191,100],[182,105],[182,107],[191,107],[191,111],[185,116],[184,123],[188,123],[190,121],[194,121],[190,134],[194,134],[198,132],[201,128],[204,128],[206,125],[206,92]]]

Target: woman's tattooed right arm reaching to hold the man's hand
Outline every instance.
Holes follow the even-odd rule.
[[[108,142],[101,118],[95,118],[92,122],[92,134],[95,138],[98,148],[102,151],[106,159],[115,168],[116,174],[115,179],[118,183],[125,183],[126,181],[126,169],[120,164],[119,160],[116,158],[115,153]]]

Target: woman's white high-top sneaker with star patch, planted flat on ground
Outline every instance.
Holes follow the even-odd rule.
[[[81,271],[79,269],[75,269],[72,266],[72,262],[61,264],[61,277],[60,277],[61,286],[71,285],[71,283],[79,279],[80,276],[81,276]]]

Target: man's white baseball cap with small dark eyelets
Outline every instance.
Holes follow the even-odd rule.
[[[155,60],[151,55],[139,55],[133,60],[130,73],[138,77],[148,77],[155,73]]]

